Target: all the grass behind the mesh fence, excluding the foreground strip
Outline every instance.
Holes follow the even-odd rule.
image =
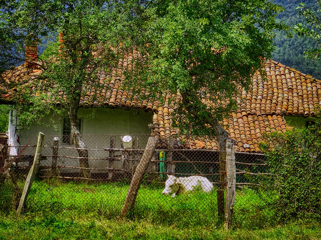
[[[24,182],[18,181],[20,187]],[[196,192],[174,198],[161,194],[163,185],[143,182],[134,209],[128,219],[150,224],[185,227],[222,226],[217,216],[216,191],[211,194]],[[128,183],[75,183],[59,180],[35,180],[30,190],[25,212],[74,218],[94,214],[107,220],[115,220],[124,204]],[[12,186],[1,184],[0,208],[3,214],[12,210]],[[244,188],[237,190],[234,207],[234,227],[240,229],[264,229],[275,225],[273,208],[269,206],[274,193],[260,193]],[[2,202],[1,202],[2,201]],[[1,240],[1,239],[0,239]]]

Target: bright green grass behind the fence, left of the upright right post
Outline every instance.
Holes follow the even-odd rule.
[[[23,182],[19,184],[22,187]],[[121,211],[128,188],[129,185],[124,183],[85,184],[35,180],[26,202],[26,212],[54,213],[65,217],[97,213],[106,219],[114,219]],[[172,198],[162,195],[162,190],[160,184],[142,185],[135,208],[128,218],[181,226],[217,221],[216,191],[212,194],[196,192],[190,196]]]

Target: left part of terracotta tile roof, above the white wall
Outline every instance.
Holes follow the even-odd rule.
[[[138,101],[137,96],[133,96],[131,92],[124,90],[123,82],[125,76],[123,75],[124,62],[120,61],[117,69],[114,69],[111,74],[106,74],[103,71],[98,72],[97,80],[100,83],[99,89],[95,87],[84,87],[86,94],[80,99],[80,107],[115,107],[115,108],[143,108],[150,111],[156,111],[159,102],[151,100],[149,98],[143,101]],[[32,69],[28,71],[27,68],[22,64],[20,67],[15,68],[4,73],[7,83],[15,83],[16,85],[31,86],[31,90],[35,89],[32,86],[33,79],[41,74],[41,70]],[[54,86],[56,87],[56,86]],[[1,94],[0,104],[8,103],[12,100],[12,96],[16,94],[17,87],[11,89],[4,88],[4,85],[0,84]]]

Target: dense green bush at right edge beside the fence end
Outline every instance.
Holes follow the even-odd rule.
[[[273,174],[265,183],[278,192],[273,205],[279,220],[321,219],[319,126],[265,134],[260,143]]]

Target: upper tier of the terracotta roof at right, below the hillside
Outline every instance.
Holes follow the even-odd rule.
[[[265,63],[266,78],[259,72],[252,77],[246,99],[240,104],[248,114],[290,114],[310,116],[321,104],[321,82],[311,75],[273,60]]]

